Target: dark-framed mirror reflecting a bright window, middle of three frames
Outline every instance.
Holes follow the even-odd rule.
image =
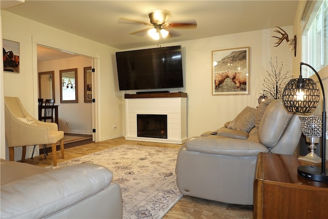
[[[77,68],[59,70],[60,103],[77,103]]]

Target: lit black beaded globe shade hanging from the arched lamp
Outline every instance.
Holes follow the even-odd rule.
[[[291,79],[283,89],[282,102],[289,112],[311,113],[319,99],[320,91],[311,78]]]

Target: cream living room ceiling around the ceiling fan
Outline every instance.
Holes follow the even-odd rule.
[[[18,2],[24,0],[18,0]],[[11,1],[5,1],[10,3]],[[1,3],[3,5],[3,1]],[[2,6],[11,13],[32,19],[119,50],[156,46],[293,25],[298,1],[30,1]],[[196,20],[196,29],[171,29],[172,38],[160,42],[145,34],[142,24],[118,23],[119,17],[149,22],[148,14],[168,10],[168,22]]]

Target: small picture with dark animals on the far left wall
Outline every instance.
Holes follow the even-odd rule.
[[[3,39],[4,71],[19,73],[19,43]]]

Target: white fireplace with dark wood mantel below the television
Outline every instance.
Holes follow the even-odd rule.
[[[183,144],[188,140],[187,93],[125,94],[124,97],[126,140],[172,144]],[[149,115],[155,115],[155,118]],[[162,119],[165,121],[157,121]],[[157,123],[156,127],[153,122]]]

